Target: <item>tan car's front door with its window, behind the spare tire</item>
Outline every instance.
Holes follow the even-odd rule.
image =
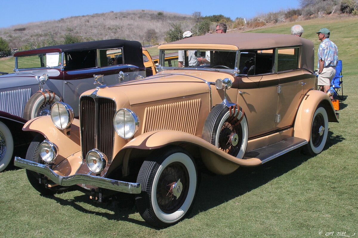
[[[272,72],[273,50],[245,52],[240,58],[239,69],[246,67],[247,76],[238,77],[237,104],[247,117],[249,137],[264,135],[274,130],[277,113],[279,77]]]

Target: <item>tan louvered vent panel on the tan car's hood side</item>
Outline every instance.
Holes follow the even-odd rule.
[[[195,135],[200,99],[145,108],[142,133],[156,130],[183,131]]]

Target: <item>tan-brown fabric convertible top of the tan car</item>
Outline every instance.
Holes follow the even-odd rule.
[[[201,49],[201,50],[258,50],[276,47],[302,46],[303,68],[313,72],[313,42],[301,37],[270,33],[228,33],[194,36],[161,45],[158,49]]]

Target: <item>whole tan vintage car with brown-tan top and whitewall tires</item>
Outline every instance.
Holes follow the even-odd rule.
[[[142,218],[166,227],[189,213],[200,172],[229,174],[299,147],[320,153],[338,122],[314,90],[309,40],[213,34],[159,50],[157,74],[82,93],[79,119],[58,102],[25,124],[39,134],[15,165],[35,189],[72,186],[99,202],[133,193]],[[164,66],[173,52],[183,67]]]

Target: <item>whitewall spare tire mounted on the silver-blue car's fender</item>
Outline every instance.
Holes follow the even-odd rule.
[[[24,118],[30,120],[39,116],[50,115],[51,106],[55,102],[60,102],[61,98],[51,91],[36,92],[26,102]]]

